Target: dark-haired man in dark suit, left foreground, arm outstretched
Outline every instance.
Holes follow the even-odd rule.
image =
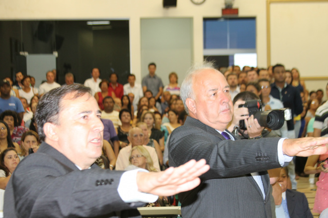
[[[53,89],[41,98],[36,120],[43,143],[11,175],[4,217],[140,217],[131,209],[157,195],[190,190],[208,170],[204,160],[158,173],[96,168],[103,142],[100,114],[83,85]]]

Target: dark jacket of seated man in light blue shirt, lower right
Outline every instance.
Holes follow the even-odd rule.
[[[313,218],[304,193],[287,189],[286,199],[290,218]]]

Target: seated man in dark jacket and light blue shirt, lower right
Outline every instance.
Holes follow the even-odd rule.
[[[287,189],[287,180],[287,168],[283,167],[277,181],[280,184],[282,191],[282,203],[281,205],[276,206],[277,218],[277,209],[279,208],[282,208],[284,211],[284,214],[281,214],[279,218],[313,218],[305,194]]]

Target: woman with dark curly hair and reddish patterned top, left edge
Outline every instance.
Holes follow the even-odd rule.
[[[12,110],[5,110],[0,114],[0,119],[7,123],[12,141],[20,145],[20,138],[29,129],[19,126],[17,113]]]

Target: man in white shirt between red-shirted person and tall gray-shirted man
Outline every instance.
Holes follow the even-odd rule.
[[[129,93],[132,93],[134,95],[133,102],[133,108],[134,110],[138,109],[138,102],[139,99],[144,96],[144,92],[142,90],[141,84],[135,83],[136,82],[136,76],[134,74],[128,75],[128,83],[123,86],[124,95],[129,95]]]

